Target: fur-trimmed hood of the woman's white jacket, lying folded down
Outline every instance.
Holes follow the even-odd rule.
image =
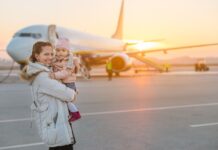
[[[49,68],[40,64],[40,63],[29,62],[28,66],[27,66],[26,74],[28,76],[32,76],[32,75],[35,75],[35,74],[37,74],[39,72],[43,72],[43,71],[49,72]]]

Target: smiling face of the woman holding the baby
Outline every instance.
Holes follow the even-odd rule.
[[[40,54],[35,55],[37,61],[46,66],[50,66],[53,59],[53,49],[51,46],[42,47],[42,51]]]

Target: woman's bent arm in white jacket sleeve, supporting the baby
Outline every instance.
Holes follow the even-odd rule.
[[[74,101],[76,93],[74,90],[66,87],[64,84],[49,77],[47,72],[42,72],[37,76],[41,92],[62,101]]]

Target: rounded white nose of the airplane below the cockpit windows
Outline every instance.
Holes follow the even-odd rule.
[[[35,41],[24,40],[21,38],[13,38],[7,45],[7,53],[17,63],[22,63],[31,55],[32,45]]]

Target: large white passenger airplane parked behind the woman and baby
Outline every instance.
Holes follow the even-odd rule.
[[[140,54],[160,51],[166,53],[169,50],[218,45],[218,43],[212,43],[168,49],[127,51],[128,45],[136,43],[122,41],[123,11],[124,0],[122,0],[121,3],[116,31],[111,38],[91,35],[56,25],[32,25],[25,27],[14,34],[7,45],[7,52],[13,60],[23,66],[27,63],[27,59],[31,55],[32,46],[35,42],[50,41],[55,45],[55,42],[58,39],[65,38],[70,41],[72,52],[80,56],[83,74],[85,76],[90,76],[89,71],[91,70],[91,67],[106,64],[107,61],[111,61],[113,72],[119,75],[120,72],[126,71],[132,67],[132,57],[158,68],[155,63],[143,59]],[[161,68],[159,68],[159,70],[161,70]]]

